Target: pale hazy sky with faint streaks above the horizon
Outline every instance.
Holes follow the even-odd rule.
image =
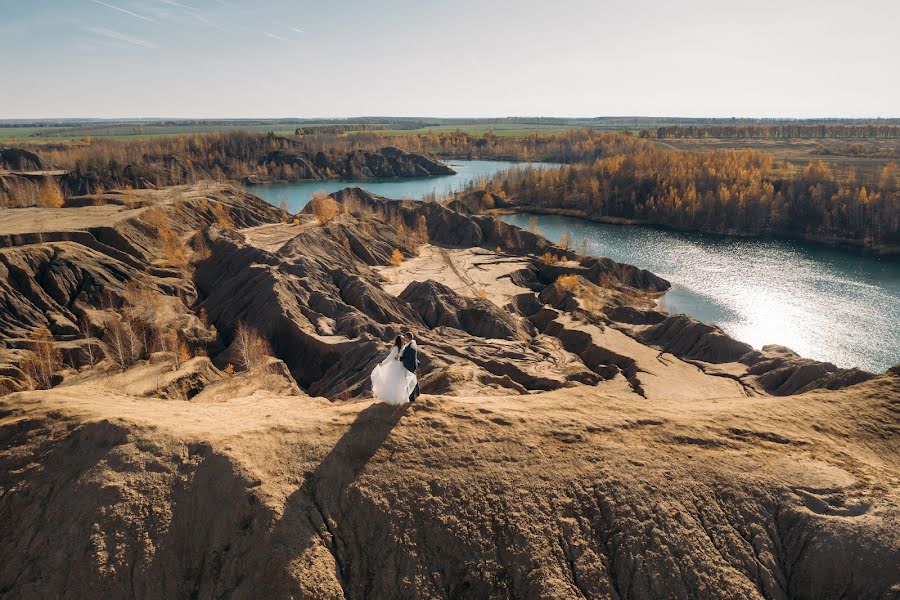
[[[900,117],[896,0],[0,0],[0,119]]]

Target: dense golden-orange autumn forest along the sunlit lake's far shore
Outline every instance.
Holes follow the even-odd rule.
[[[900,247],[895,164],[875,183],[835,175],[821,161],[785,169],[759,151],[652,149],[559,169],[513,169],[476,187],[502,192],[518,206],[598,219]]]

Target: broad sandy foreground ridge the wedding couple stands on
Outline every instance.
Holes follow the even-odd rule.
[[[678,410],[588,388],[408,410],[7,398],[0,590],[889,598],[898,382]]]

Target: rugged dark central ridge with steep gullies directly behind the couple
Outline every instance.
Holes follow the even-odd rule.
[[[329,397],[364,394],[371,369],[403,329],[422,341],[420,375],[426,390],[429,373],[448,369],[468,369],[475,380],[512,393],[596,380],[558,343],[535,343],[527,321],[489,302],[427,285],[428,291],[418,288],[417,293],[414,286],[394,297],[370,268],[389,264],[395,248],[413,256],[408,232],[420,224],[432,241],[459,246],[484,239],[479,222],[433,203],[389,201],[359,189],[334,198],[348,207],[346,214],[290,232],[274,252],[252,246],[238,232],[214,227],[204,233],[210,256],[197,264],[199,305],[226,344],[235,324],[247,323],[270,339],[302,386]],[[349,212],[351,206],[365,217]],[[444,229],[448,222],[458,227]],[[511,247],[547,244],[530,234],[518,237],[512,229]],[[486,338],[513,346],[498,352]],[[552,364],[562,368],[554,372]],[[433,381],[446,384],[446,379]]]

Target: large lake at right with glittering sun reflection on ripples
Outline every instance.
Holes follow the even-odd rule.
[[[526,227],[528,216],[503,217]],[[661,307],[716,323],[755,348],[782,344],[842,367],[900,362],[900,261],[785,240],[747,240],[536,216],[554,241],[568,231],[591,254],[672,282]]]

